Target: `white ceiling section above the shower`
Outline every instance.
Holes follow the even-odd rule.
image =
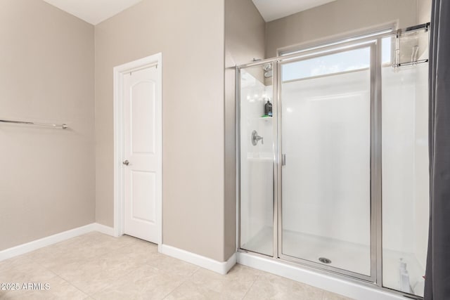
[[[252,0],[262,18],[270,22],[279,18],[306,11],[335,0]]]

